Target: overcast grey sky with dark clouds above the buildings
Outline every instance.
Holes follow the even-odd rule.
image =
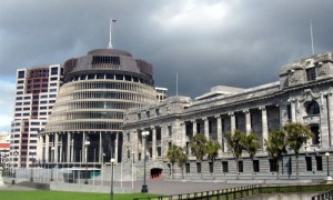
[[[19,68],[113,47],[154,66],[155,86],[198,97],[218,84],[279,80],[283,64],[333,50],[332,0],[1,0],[0,132],[10,131]]]

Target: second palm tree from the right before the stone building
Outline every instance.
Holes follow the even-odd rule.
[[[278,179],[280,179],[279,161],[282,159],[282,153],[286,153],[285,132],[273,130],[265,140],[265,146],[270,157],[278,163]]]

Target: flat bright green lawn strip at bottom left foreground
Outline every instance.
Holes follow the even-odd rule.
[[[130,200],[133,198],[152,197],[153,194],[142,194],[142,193],[125,193],[119,194],[114,193],[114,200]],[[110,193],[88,193],[88,192],[62,192],[62,191],[12,191],[12,190],[1,190],[1,200],[109,200]]]

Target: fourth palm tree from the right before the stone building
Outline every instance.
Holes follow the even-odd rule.
[[[236,164],[236,179],[240,179],[239,176],[239,159],[242,156],[242,151],[244,150],[243,141],[246,134],[240,130],[235,130],[234,133],[226,133],[226,144],[232,152],[233,157],[235,158]]]

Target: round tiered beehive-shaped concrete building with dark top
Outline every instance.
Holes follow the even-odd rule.
[[[67,60],[63,70],[39,159],[60,166],[120,161],[124,111],[158,102],[153,67],[125,51],[97,49]]]

